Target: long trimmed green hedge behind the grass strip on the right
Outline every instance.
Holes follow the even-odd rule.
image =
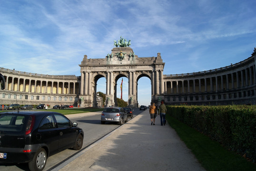
[[[256,161],[256,106],[167,106],[167,114]]]

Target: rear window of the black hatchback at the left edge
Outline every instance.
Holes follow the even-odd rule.
[[[1,114],[0,115],[0,133],[1,134],[24,134],[26,116]]]

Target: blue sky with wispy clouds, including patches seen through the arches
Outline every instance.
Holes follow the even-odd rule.
[[[0,67],[80,76],[83,56],[104,58],[120,36],[138,57],[161,53],[164,75],[228,66],[256,47],[255,7],[256,0],[1,0]],[[98,91],[106,93],[105,82]],[[141,105],[150,103],[148,85],[138,81]]]

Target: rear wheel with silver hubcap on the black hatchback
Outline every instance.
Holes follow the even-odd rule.
[[[47,154],[43,148],[40,148],[29,162],[30,171],[42,171],[46,165]]]

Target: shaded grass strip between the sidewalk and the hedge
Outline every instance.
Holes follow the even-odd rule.
[[[226,150],[218,142],[212,141],[170,115],[167,114],[166,117],[170,126],[207,171],[256,171],[256,164]]]

